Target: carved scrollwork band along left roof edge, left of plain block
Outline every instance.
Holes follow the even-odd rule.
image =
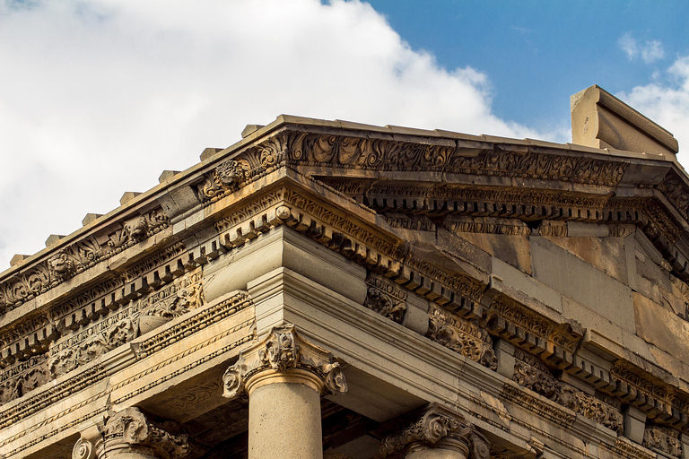
[[[46,259],[29,264],[0,281],[0,312],[21,306],[74,275],[152,236],[168,224],[164,213],[153,210],[121,221],[121,228],[110,233],[102,244],[96,238],[86,236]]]

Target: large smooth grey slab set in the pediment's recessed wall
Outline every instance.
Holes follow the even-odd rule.
[[[537,281],[596,311],[615,325],[634,330],[632,289],[543,237],[531,238]]]

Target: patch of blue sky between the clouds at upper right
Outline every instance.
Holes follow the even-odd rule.
[[[613,93],[666,82],[689,55],[689,2],[371,0],[412,48],[447,68],[471,65],[490,78],[493,112],[521,124],[569,123],[567,97],[592,84]],[[629,56],[624,37],[663,56]],[[655,74],[655,76],[654,76]],[[689,126],[687,126],[689,128]]]

